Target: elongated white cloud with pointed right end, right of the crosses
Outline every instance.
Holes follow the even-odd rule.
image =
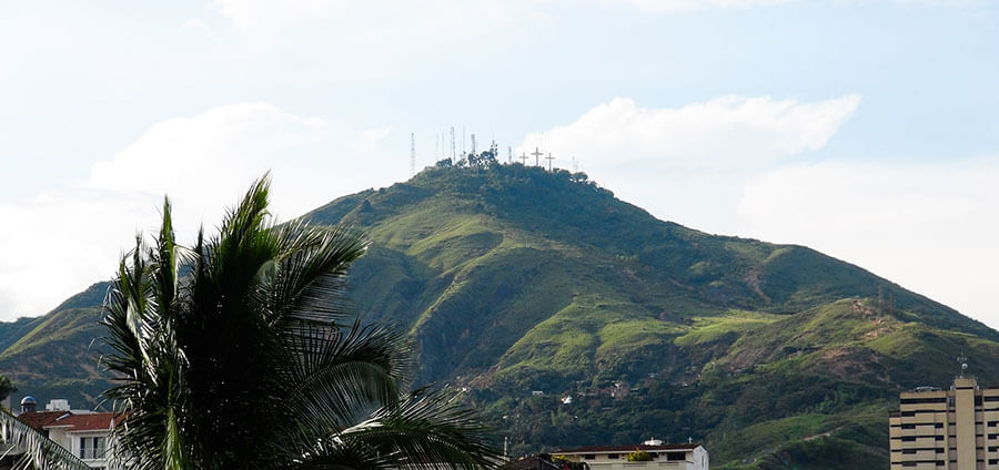
[[[805,103],[728,95],[683,108],[645,109],[616,98],[572,124],[528,135],[518,152],[539,145],[563,156],[585,155],[588,162],[758,167],[821,149],[859,103],[857,95]]]

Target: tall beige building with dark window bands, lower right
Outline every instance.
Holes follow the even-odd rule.
[[[999,388],[973,377],[902,392],[888,425],[891,470],[999,469]]]

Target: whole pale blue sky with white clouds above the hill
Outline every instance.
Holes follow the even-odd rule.
[[[270,168],[291,217],[454,125],[996,327],[997,24],[985,0],[7,2],[0,318],[110,277],[164,192],[192,236]]]

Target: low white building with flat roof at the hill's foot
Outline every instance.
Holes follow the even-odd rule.
[[[629,462],[628,454],[640,450],[652,458],[648,461]],[[663,443],[648,440],[639,446],[599,446],[559,450],[553,456],[562,456],[574,462],[586,463],[591,470],[709,470],[710,459],[699,443]]]

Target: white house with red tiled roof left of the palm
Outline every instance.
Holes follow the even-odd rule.
[[[65,400],[52,400],[46,407],[47,411],[36,411],[31,397],[24,397],[21,403],[18,419],[22,422],[73,452],[91,468],[110,468],[111,430],[121,421],[121,415],[71,410]]]

